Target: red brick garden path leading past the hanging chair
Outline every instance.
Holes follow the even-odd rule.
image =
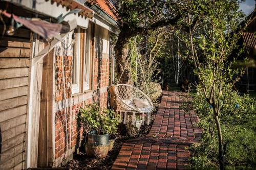
[[[150,133],[123,143],[112,169],[185,169],[187,148],[201,138],[194,111],[181,110],[181,92],[163,91]]]

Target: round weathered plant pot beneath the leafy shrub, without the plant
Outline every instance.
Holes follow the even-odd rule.
[[[96,158],[104,158],[109,152],[109,134],[98,135],[89,131],[86,137],[86,154]]]

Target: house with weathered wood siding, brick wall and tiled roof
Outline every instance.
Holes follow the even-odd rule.
[[[0,169],[61,166],[81,146],[79,108],[107,105],[117,10],[108,0],[7,0],[0,16]]]

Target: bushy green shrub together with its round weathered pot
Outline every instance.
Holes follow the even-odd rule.
[[[87,105],[80,108],[81,122],[86,135],[86,153],[88,156],[104,158],[109,152],[109,133],[117,129],[115,113],[98,105]]]

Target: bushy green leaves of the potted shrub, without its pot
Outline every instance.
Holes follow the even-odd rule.
[[[98,134],[115,134],[118,126],[118,115],[110,109],[100,108],[98,105],[87,105],[80,108],[81,122],[86,131],[96,130]]]

